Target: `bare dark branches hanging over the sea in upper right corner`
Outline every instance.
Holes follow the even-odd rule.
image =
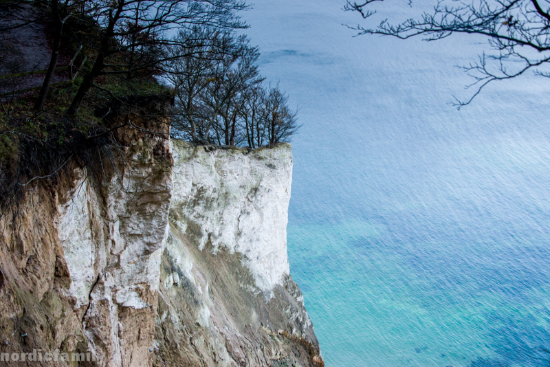
[[[359,12],[368,19],[374,10],[369,5],[348,0],[345,10]],[[410,4],[410,1],[409,1]],[[359,34],[382,34],[406,39],[424,36],[426,41],[446,38],[453,33],[480,34],[489,38],[494,53],[481,55],[464,69],[474,77],[473,95],[457,100],[460,108],[469,104],[489,82],[516,78],[533,69],[550,77],[544,66],[550,62],[550,2],[548,0],[475,0],[472,2],[438,0],[432,12],[419,19],[393,25],[382,21],[375,27],[352,27]]]

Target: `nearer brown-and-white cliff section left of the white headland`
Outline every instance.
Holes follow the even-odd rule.
[[[30,188],[19,213],[2,219],[0,353],[69,353],[54,366],[78,365],[71,353],[97,366],[151,366],[173,159],[168,120],[140,115],[148,112],[122,117],[133,123],[105,161],[112,174],[87,179],[72,162],[56,188]],[[17,364],[27,362],[10,358]]]

